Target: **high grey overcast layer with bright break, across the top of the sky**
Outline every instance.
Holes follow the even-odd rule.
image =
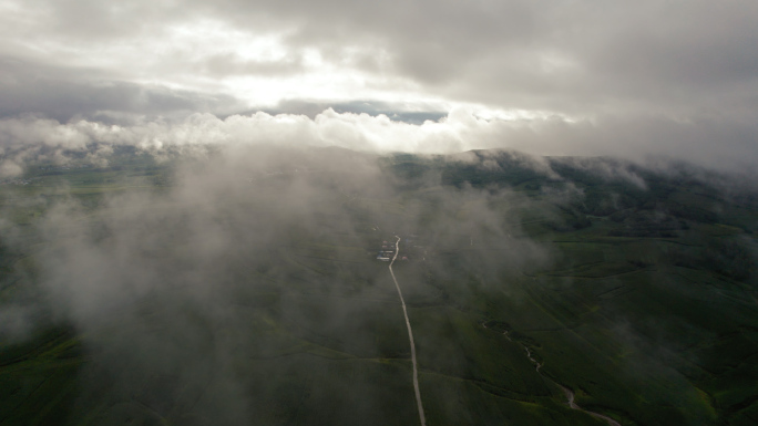
[[[6,44],[27,54],[32,45],[69,51],[69,64],[98,64],[126,80],[205,84],[192,74],[208,72],[278,79],[296,66],[291,84],[303,73],[329,72],[365,79],[363,90],[404,82],[416,85],[407,93],[413,96],[502,108],[689,115],[755,107],[756,15],[752,4],[707,1],[69,1],[12,7]],[[106,60],[93,61],[95,51]]]

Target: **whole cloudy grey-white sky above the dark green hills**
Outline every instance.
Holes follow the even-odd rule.
[[[756,23],[701,0],[0,0],[0,170],[99,138],[750,169]]]

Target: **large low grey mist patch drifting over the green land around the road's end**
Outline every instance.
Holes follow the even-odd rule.
[[[499,210],[519,200],[510,191],[438,181],[403,201],[375,155],[224,144],[174,183],[106,196],[95,209],[62,200],[33,231],[45,241],[34,254],[44,306],[80,333],[79,402],[101,424],[117,415],[112,406],[137,403],[183,424],[246,424],[256,404],[280,401],[270,377],[300,377],[301,356],[403,356],[404,339],[398,350],[376,337],[377,326],[406,330],[386,263],[372,259],[390,229],[423,232],[429,268],[441,273],[451,272],[441,253],[465,242],[488,285],[498,271],[546,259],[515,238],[505,219],[519,222],[516,214]],[[430,208],[438,214],[424,217]],[[409,300],[422,297],[420,272],[402,279]],[[16,328],[22,316],[8,312]],[[318,395],[319,383],[304,386]],[[375,388],[358,383],[350,394]]]

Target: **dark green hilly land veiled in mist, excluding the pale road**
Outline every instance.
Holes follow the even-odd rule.
[[[738,177],[512,150],[101,154],[3,180],[2,424],[416,423],[377,259],[395,236],[429,425],[607,423],[567,393],[622,425],[758,413]]]

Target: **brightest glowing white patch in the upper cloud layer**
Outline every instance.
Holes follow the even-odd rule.
[[[285,34],[286,32],[254,34],[213,21],[174,27],[170,31],[168,42],[161,48],[166,55],[183,58],[184,61],[196,64],[227,55],[231,61],[239,62],[243,66],[247,62],[250,66],[247,72],[229,72],[227,75],[224,70],[215,75],[185,74],[177,70],[175,75],[162,84],[176,84],[181,81],[185,89],[197,85],[212,89],[215,85],[217,90],[258,107],[273,106],[288,98],[397,101],[402,97],[418,97],[418,94],[407,92],[407,85],[390,82],[382,84],[381,77],[369,76],[350,66],[361,54],[367,54],[357,46],[346,49],[342,58],[335,62],[334,59],[326,59],[316,48],[295,50],[287,46],[283,42]],[[272,69],[280,65],[283,71],[267,73],[256,69],[267,65]],[[296,70],[287,72],[288,66]],[[151,82],[161,83],[155,80]],[[399,90],[388,91],[388,86],[397,86]]]

